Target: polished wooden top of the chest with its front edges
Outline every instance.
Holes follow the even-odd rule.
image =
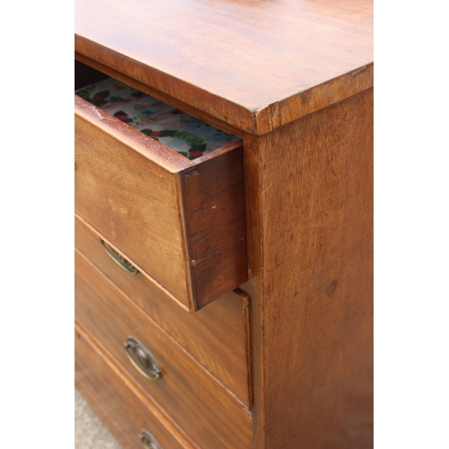
[[[373,85],[373,5],[77,0],[75,51],[261,135]]]

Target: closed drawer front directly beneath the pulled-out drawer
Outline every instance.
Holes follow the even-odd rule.
[[[101,245],[103,239],[75,216],[77,250],[216,379],[251,407],[247,296],[230,292],[198,313],[185,313],[154,281],[140,273],[131,275],[110,260]]]

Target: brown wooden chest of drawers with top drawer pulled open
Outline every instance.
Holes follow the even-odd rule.
[[[162,137],[190,131],[75,95],[77,388],[124,447],[372,447],[372,5],[75,19],[76,89],[112,77],[234,136],[186,157]]]

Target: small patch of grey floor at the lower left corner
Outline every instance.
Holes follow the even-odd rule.
[[[76,390],[75,449],[122,449]]]

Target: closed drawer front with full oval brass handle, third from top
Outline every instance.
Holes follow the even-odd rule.
[[[79,253],[75,269],[77,319],[186,434],[200,447],[250,447],[244,404]],[[128,359],[127,342],[131,356],[145,356],[146,375],[157,380],[137,370],[145,371],[142,362]]]

